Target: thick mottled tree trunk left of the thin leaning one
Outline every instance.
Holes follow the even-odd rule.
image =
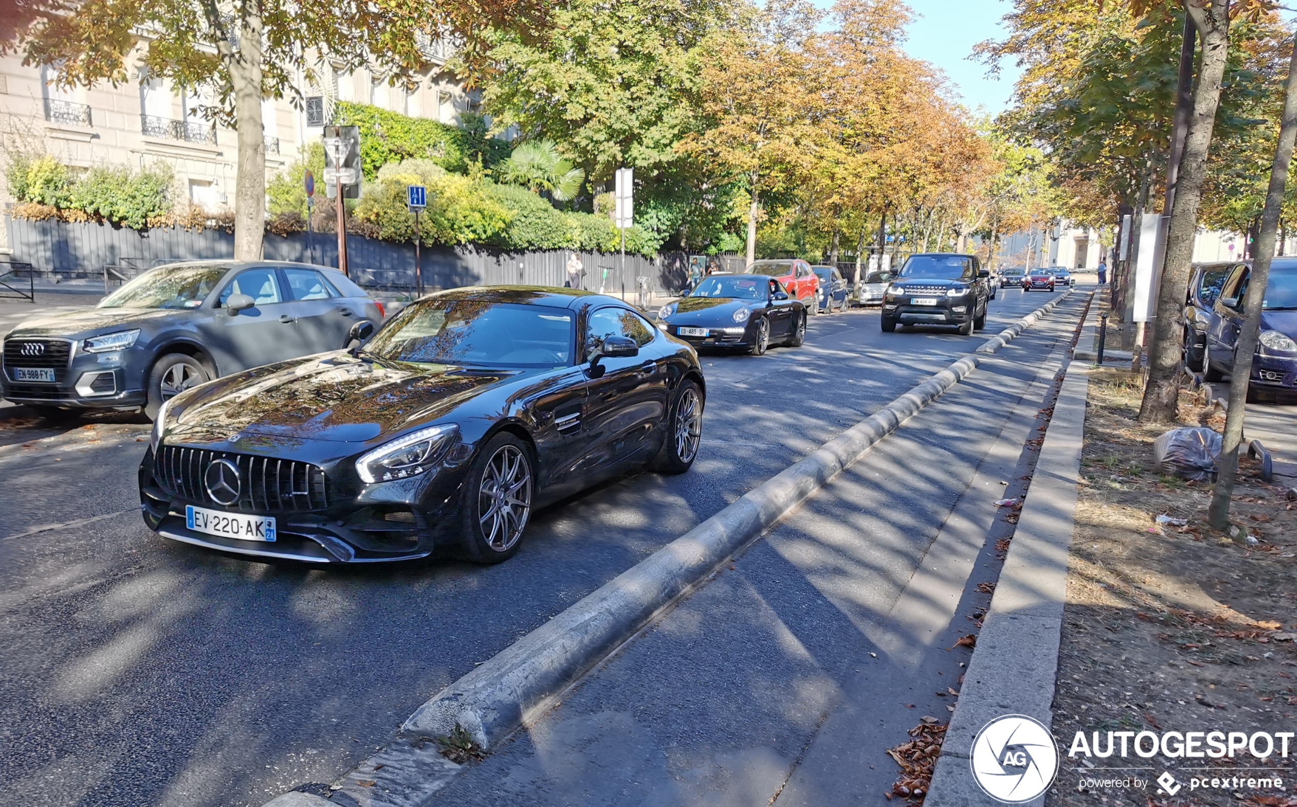
[[[1148,385],[1144,388],[1139,414],[1141,423],[1171,422],[1179,406],[1180,315],[1192,271],[1198,202],[1202,200],[1202,179],[1230,44],[1228,0],[1209,0],[1205,9],[1193,5],[1187,5],[1187,9],[1202,34],[1202,65],[1198,69],[1198,86],[1193,92],[1193,118],[1189,121],[1189,135],[1184,143],[1175,204],[1167,227],[1166,263],[1149,345]]]

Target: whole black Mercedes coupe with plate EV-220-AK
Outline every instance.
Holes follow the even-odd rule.
[[[315,563],[511,557],[537,507],[698,455],[698,357],[620,300],[468,288],[411,304],[362,346],[169,400],[140,463],[145,523]]]

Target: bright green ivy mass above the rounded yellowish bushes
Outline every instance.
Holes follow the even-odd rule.
[[[464,174],[471,165],[492,167],[508,156],[508,144],[485,134],[482,121],[470,115],[466,126],[410,118],[368,104],[340,101],[335,122],[361,130],[361,167],[372,179],[389,162],[411,157],[432,160],[447,171]]]

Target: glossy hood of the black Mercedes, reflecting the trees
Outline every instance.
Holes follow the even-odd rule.
[[[206,387],[167,433],[179,441],[262,435],[364,442],[442,416],[519,374],[326,353],[258,367]]]

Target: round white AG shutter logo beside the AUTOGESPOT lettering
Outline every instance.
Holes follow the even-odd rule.
[[[1058,747],[1043,723],[1005,715],[982,727],[969,759],[973,778],[997,802],[1021,804],[1049,789],[1058,773]]]

